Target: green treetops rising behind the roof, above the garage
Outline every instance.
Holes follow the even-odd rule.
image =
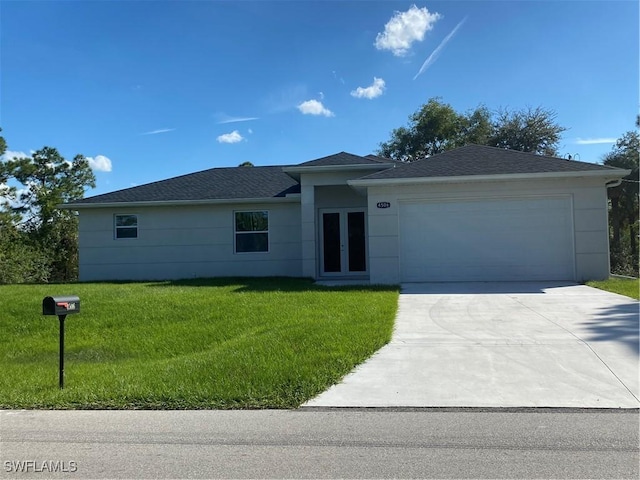
[[[495,117],[483,105],[457,113],[440,98],[432,98],[409,116],[407,126],[394,129],[377,153],[412,162],[475,143],[555,155],[560,134],[566,130],[555,119],[553,111],[542,107],[515,112],[500,109]]]

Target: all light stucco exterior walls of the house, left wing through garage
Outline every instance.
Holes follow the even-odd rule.
[[[368,187],[345,183],[357,172],[303,174],[300,203],[96,208],[80,211],[80,280],[146,280],[216,276],[318,275],[319,208],[366,207],[372,283],[395,284],[399,271],[399,204],[569,196],[575,281],[609,274],[607,193],[602,179],[467,182]],[[363,190],[360,190],[363,193]],[[390,207],[377,208],[378,202]],[[236,210],[269,211],[269,252],[234,253]],[[114,215],[138,215],[138,238],[115,239]]]

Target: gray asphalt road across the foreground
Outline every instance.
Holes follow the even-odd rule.
[[[638,410],[1,411],[0,478],[637,479],[639,429]]]

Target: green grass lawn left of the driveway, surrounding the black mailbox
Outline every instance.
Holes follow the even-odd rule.
[[[48,295],[78,295],[65,322]],[[305,279],[0,286],[0,408],[292,408],[391,338],[395,287]]]

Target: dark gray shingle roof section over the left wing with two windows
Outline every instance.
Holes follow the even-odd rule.
[[[300,193],[300,184],[281,166],[212,168],[71,204],[277,198],[292,193]]]

